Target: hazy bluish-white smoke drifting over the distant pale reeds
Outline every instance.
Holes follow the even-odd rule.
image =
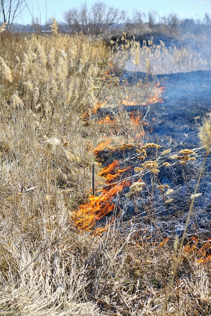
[[[186,19],[174,34],[145,34],[140,42],[139,63],[135,65],[133,46],[128,51],[125,71],[151,75],[210,70],[210,27]],[[125,58],[125,57],[124,57]]]

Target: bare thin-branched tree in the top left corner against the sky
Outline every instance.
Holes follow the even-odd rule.
[[[3,19],[3,23],[8,23],[8,29],[11,28],[14,20],[25,7],[25,0],[1,0],[0,16]]]

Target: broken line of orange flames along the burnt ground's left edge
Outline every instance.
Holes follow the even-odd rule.
[[[145,102],[142,102],[142,106],[147,104],[155,104],[157,102],[163,102],[161,98],[161,93],[164,92],[164,87],[160,87],[160,84],[156,84],[153,89],[153,95],[149,96]],[[104,102],[98,102],[94,110],[92,111],[94,115],[100,108],[107,105],[108,99]],[[126,106],[137,105],[136,101],[131,102],[128,99],[119,102]],[[84,116],[86,119],[88,114]],[[141,121],[141,115],[137,111],[131,111],[131,122],[132,125],[137,129],[144,122]],[[101,118],[96,122],[97,124],[116,124],[116,119],[112,119],[109,115],[105,118]],[[141,124],[141,125],[140,125]],[[133,138],[136,140],[137,137],[143,137],[144,131],[139,131],[139,133]],[[97,155],[99,151],[108,148],[113,149],[111,144],[112,139],[106,137],[104,142],[98,144],[94,149],[94,154]],[[124,144],[126,145],[126,144]],[[134,146],[132,146],[134,147]],[[120,168],[120,162],[114,160],[113,163],[103,168],[99,173],[99,176],[105,179],[103,188],[96,190],[95,194],[90,194],[89,201],[85,204],[80,204],[78,209],[73,213],[73,222],[81,230],[91,231],[93,226],[95,226],[95,231],[97,232],[96,223],[104,218],[108,213],[114,210],[115,203],[113,198],[118,196],[124,187],[131,186],[131,181],[128,181],[128,174],[132,167]],[[102,229],[101,229],[102,230]],[[106,230],[106,227],[103,228]]]

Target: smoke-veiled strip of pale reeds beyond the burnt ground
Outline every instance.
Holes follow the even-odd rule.
[[[191,42],[189,42],[190,38]],[[125,69],[129,71],[142,71],[158,75],[210,70],[211,56],[207,48],[208,35],[201,35],[200,38],[193,34],[183,35],[181,47],[173,45],[174,42],[170,47],[166,47],[162,40],[156,45],[153,42],[153,36],[148,42],[144,41],[141,48],[134,40],[125,41],[122,48],[128,49],[128,56],[123,54],[121,60],[125,64]],[[177,38],[176,41],[178,41]],[[136,62],[137,59],[139,63]]]

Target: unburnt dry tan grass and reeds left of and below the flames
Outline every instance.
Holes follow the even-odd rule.
[[[6,24],[1,31],[4,29]],[[100,36],[56,35],[56,31],[55,24],[53,40],[51,34],[1,37],[1,314],[160,314],[175,254],[171,246],[160,246],[156,236],[152,241],[140,209],[137,217],[123,221],[121,212],[115,217],[119,204],[118,198],[113,199],[113,224],[108,222],[98,236],[80,234],[72,222],[72,212],[89,201],[93,147],[105,134],[115,147],[121,143],[125,151],[135,147],[130,132],[137,132],[137,127],[129,128],[131,118],[121,113],[121,101],[133,95],[142,104],[149,89],[141,84],[133,86],[132,93],[127,82],[119,83],[118,75],[111,76],[116,77],[111,83],[101,80],[111,72],[108,65],[114,69],[115,61],[119,66],[128,58],[125,50],[111,51]],[[125,40],[126,49],[129,45]],[[167,67],[173,56],[162,49]],[[156,47],[146,45],[136,53],[137,68],[148,71],[152,71],[154,57],[162,60],[161,49]],[[119,116],[114,115],[115,128],[101,124],[100,129],[92,110],[107,98],[106,106],[118,108]],[[208,134],[209,128],[203,128],[202,138]],[[210,139],[202,145],[208,153]],[[139,163],[137,155],[145,161],[149,149],[159,148],[149,143],[138,149],[134,157]],[[124,156],[122,161],[128,166],[131,157]],[[132,180],[149,169],[158,172],[158,163],[159,157],[157,163],[148,161],[146,168],[140,164]],[[96,165],[96,173],[98,168]],[[95,180],[97,187],[104,185],[101,177]],[[142,189],[148,192],[147,183],[145,188],[143,182],[133,183],[132,200],[125,205],[138,200]],[[170,189],[160,189],[171,197]],[[96,225],[100,225],[97,220]],[[200,313],[203,304],[208,306],[208,273],[205,266],[195,264],[192,253],[183,262],[180,272],[184,277],[178,276],[177,287],[180,308],[181,313],[192,315]],[[168,314],[179,313],[175,288],[171,287]]]

